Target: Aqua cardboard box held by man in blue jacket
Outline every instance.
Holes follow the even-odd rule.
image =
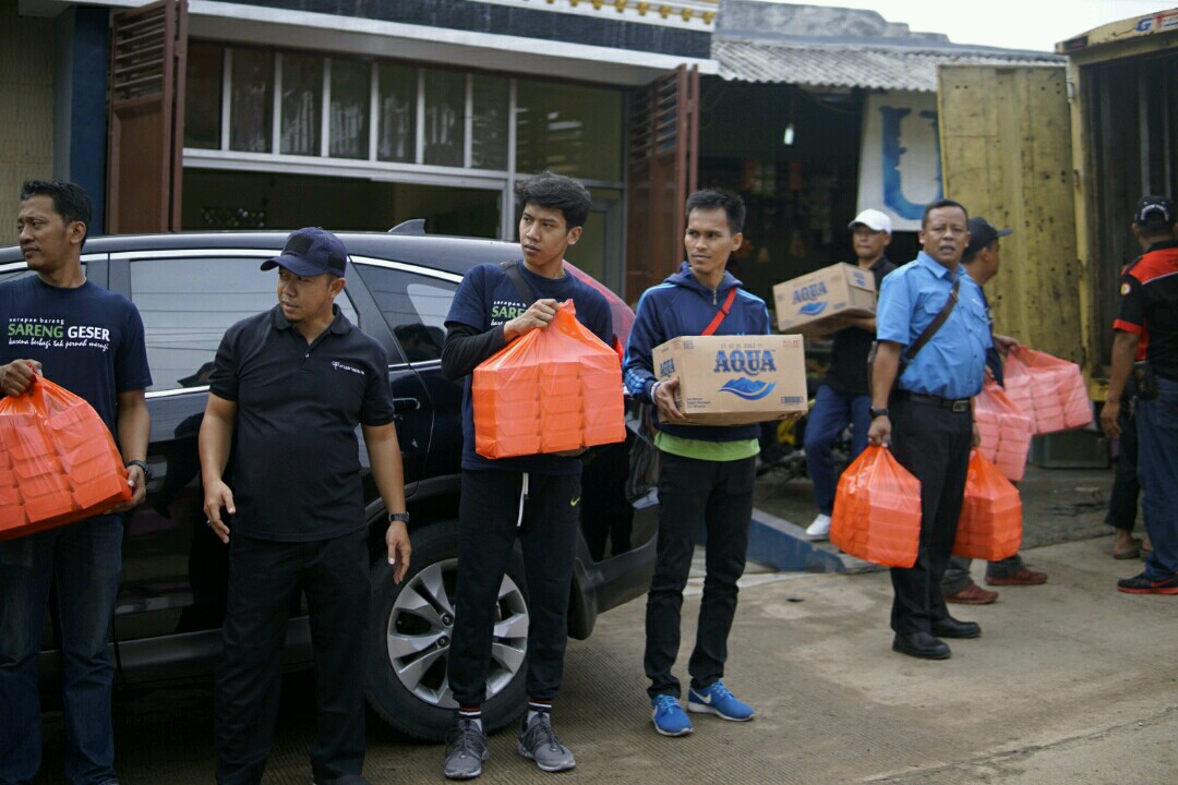
[[[655,375],[679,379],[690,425],[746,425],[805,412],[801,335],[684,335],[655,347]]]

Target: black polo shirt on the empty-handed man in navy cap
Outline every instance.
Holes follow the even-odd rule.
[[[209,388],[237,404],[236,532],[304,543],[365,526],[356,426],[391,423],[392,393],[384,350],[333,308],[310,345],[274,306],[217,350]]]

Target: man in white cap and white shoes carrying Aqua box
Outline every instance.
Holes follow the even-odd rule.
[[[849,228],[859,267],[872,271],[875,291],[879,291],[884,277],[895,270],[884,255],[892,241],[892,219],[878,209],[865,209],[855,215]],[[830,370],[818,390],[806,423],[806,464],[814,481],[814,504],[818,506],[818,517],[806,534],[815,540],[826,539],[830,533],[834,491],[839,481],[834,475],[830,447],[851,425],[851,458],[854,459],[867,446],[867,428],[872,421],[867,353],[875,339],[875,317],[851,317],[849,324],[834,334]]]

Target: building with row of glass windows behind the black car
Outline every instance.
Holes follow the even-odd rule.
[[[37,97],[27,137],[51,138],[52,155],[44,144],[24,157],[16,140],[0,157],[16,151],[16,184],[81,182],[98,227],[424,219],[431,233],[514,239],[515,181],[551,169],[594,194],[570,260],[617,291],[635,102],[676,68],[716,71],[719,0],[4,7],[0,41],[13,48],[0,85]],[[2,185],[7,199],[15,185]]]

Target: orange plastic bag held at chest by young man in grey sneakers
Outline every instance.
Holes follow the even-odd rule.
[[[532,330],[475,368],[475,451],[535,455],[626,440],[617,353],[562,302]]]

